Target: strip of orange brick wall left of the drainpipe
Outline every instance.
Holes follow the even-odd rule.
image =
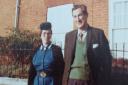
[[[14,26],[16,0],[0,0],[0,36],[8,36]]]

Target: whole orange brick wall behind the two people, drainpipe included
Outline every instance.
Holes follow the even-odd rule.
[[[0,0],[0,36],[8,36],[15,27],[37,32],[39,24],[47,19],[47,8],[81,3],[88,7],[88,23],[108,35],[108,0]]]

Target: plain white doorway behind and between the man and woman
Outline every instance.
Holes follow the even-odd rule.
[[[47,21],[52,23],[54,44],[59,45],[64,50],[65,34],[73,30],[72,20],[73,4],[65,4],[48,8]]]

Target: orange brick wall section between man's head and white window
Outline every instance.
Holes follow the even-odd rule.
[[[108,0],[93,0],[92,25],[99,27],[108,35]]]

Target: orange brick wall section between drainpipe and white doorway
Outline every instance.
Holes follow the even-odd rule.
[[[19,29],[37,31],[38,25],[46,20],[46,11],[43,0],[21,0]]]

